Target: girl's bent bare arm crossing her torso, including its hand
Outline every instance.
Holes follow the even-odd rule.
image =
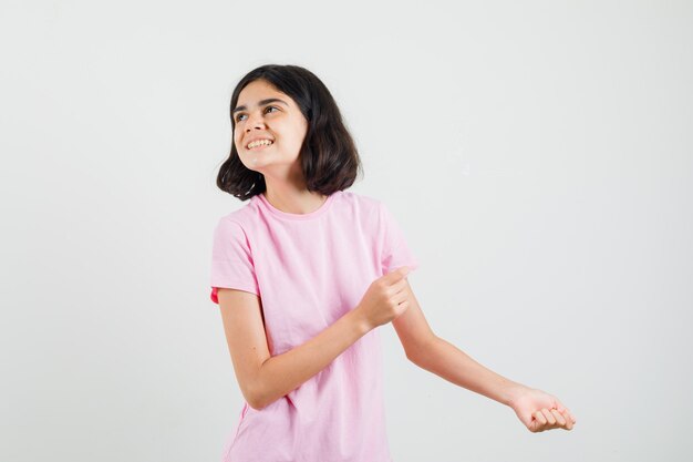
[[[262,409],[297,389],[371,329],[392,321],[408,307],[406,270],[397,269],[371,284],[356,308],[304,343],[270,356],[261,300],[242,290],[219,288],[224,330],[244,398]]]

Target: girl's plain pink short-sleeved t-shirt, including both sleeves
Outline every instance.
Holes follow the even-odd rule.
[[[339,191],[301,215],[260,194],[219,219],[211,300],[217,287],[258,295],[277,356],[354,309],[373,280],[401,266],[418,263],[382,202]],[[246,402],[223,461],[391,462],[377,329],[265,409]]]

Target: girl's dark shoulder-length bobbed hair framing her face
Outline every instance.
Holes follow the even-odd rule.
[[[308,131],[299,153],[299,162],[308,191],[331,195],[350,187],[359,173],[363,174],[361,158],[346,130],[337,102],[328,88],[312,72],[298,65],[266,64],[248,72],[236,85],[231,96],[231,131],[236,121],[231,111],[238,95],[250,82],[262,79],[290,96],[308,121]],[[217,186],[241,201],[267,189],[261,173],[246,167],[238,157],[236,143],[221,164]]]

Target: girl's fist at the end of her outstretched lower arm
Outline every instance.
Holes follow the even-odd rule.
[[[524,387],[518,391],[510,408],[532,433],[552,429],[572,430],[577,422],[556,397],[531,388]]]

